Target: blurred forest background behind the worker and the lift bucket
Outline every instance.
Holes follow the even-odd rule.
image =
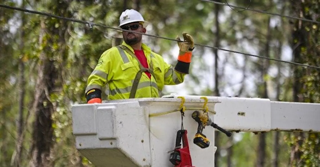
[[[225,3],[225,1],[217,2]],[[288,19],[200,0],[0,0],[0,4],[118,26],[133,8],[150,22],[148,34],[263,57],[320,66],[319,0],[228,0]],[[104,27],[0,8],[0,166],[92,166],[76,150],[71,105],[85,103],[86,80],[100,55],[121,42]],[[175,65],[175,41],[144,36]],[[164,94],[261,97],[320,102],[319,69],[196,46],[190,74]],[[103,95],[104,99],[106,95]],[[320,166],[319,133],[216,132],[218,167]]]

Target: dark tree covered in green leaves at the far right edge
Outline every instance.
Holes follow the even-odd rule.
[[[301,12],[304,18],[320,21],[319,3],[316,1],[306,1],[295,3],[292,11]],[[303,34],[303,36],[301,36]],[[292,47],[301,44],[296,49],[295,59],[300,63],[309,65],[320,65],[320,28],[314,23],[295,21],[292,28]],[[298,77],[295,85],[299,87],[296,95],[300,102],[320,102],[320,75],[319,70],[313,68],[294,68],[294,74]],[[292,135],[289,144],[295,148],[294,154],[298,155],[291,159],[292,166],[315,167],[320,165],[320,134],[304,133]],[[298,141],[303,140],[300,144]]]

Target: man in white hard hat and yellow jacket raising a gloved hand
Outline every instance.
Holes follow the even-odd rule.
[[[122,12],[119,27],[146,33],[148,22],[133,9]],[[183,33],[175,68],[142,43],[142,34],[122,31],[122,45],[106,50],[88,78],[87,103],[101,103],[101,88],[109,86],[108,100],[159,97],[164,85],[180,84],[189,73],[194,40]],[[177,36],[177,40],[180,38]]]

